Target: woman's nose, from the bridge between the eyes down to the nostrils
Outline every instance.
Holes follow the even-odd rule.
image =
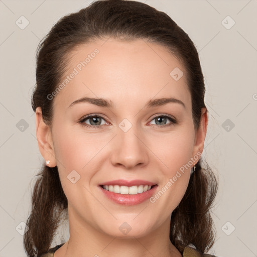
[[[139,127],[128,119],[123,119],[118,124],[115,150],[111,157],[113,165],[121,164],[132,169],[147,162],[147,151],[141,135]]]

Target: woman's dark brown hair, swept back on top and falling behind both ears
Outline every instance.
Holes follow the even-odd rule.
[[[40,106],[44,121],[51,125],[53,101],[48,100],[47,95],[57,88],[65,74],[69,54],[80,44],[107,37],[157,43],[182,62],[197,130],[201,108],[206,106],[204,78],[194,43],[168,15],[135,1],[96,1],[64,16],[53,26],[37,49],[33,110]],[[208,251],[215,239],[210,209],[218,183],[208,164],[202,168],[201,163],[200,159],[186,193],[171,217],[170,240],[181,253],[189,243],[201,252]],[[32,210],[26,222],[29,229],[24,234],[24,247],[30,257],[41,255],[50,248],[68,206],[57,166],[44,165],[38,175],[41,176],[34,186]]]

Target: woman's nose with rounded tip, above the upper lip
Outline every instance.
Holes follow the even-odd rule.
[[[113,166],[123,166],[127,170],[132,170],[136,166],[147,165],[149,150],[144,136],[139,133],[136,126],[133,125],[127,132],[118,128],[112,144],[111,163]]]

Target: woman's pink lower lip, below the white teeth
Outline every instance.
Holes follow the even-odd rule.
[[[114,192],[110,192],[108,190],[105,190],[101,186],[99,186],[102,192],[107,196],[109,199],[114,201],[115,203],[122,204],[122,205],[136,205],[143,203],[147,199],[149,199],[156,191],[158,185],[152,186],[152,188],[146,192],[138,193],[136,195],[130,195],[130,194],[118,194]]]

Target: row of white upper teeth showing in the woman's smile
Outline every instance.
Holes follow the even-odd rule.
[[[148,185],[140,185],[140,186],[132,186],[132,187],[126,187],[126,186],[118,186],[118,185],[103,185],[102,186],[105,190],[118,193],[118,194],[130,194],[130,195],[136,195],[138,193],[143,193],[152,188],[152,186]]]

